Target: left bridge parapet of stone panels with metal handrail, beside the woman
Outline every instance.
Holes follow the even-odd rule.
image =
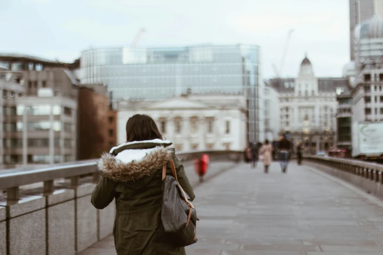
[[[240,161],[243,151],[191,151],[184,166],[202,154],[211,161]],[[96,160],[42,169],[0,170],[0,254],[75,255],[112,234],[115,204],[97,210],[90,196],[100,179]]]

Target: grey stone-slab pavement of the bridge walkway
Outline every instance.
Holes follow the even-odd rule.
[[[199,240],[187,255],[383,255],[383,208],[306,166],[241,164],[195,193]],[[115,255],[113,238],[90,254]]]

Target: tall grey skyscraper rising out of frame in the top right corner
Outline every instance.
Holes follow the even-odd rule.
[[[350,58],[354,60],[354,30],[361,22],[368,21],[374,14],[383,17],[383,0],[350,0]]]

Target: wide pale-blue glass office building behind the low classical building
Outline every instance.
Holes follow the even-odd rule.
[[[249,141],[259,141],[259,47],[105,48],[81,55],[81,83],[104,84],[116,100],[163,100],[192,93],[242,94],[248,99]]]

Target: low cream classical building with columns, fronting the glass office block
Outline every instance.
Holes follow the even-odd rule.
[[[135,114],[151,116],[178,151],[243,150],[247,141],[246,99],[241,95],[185,95],[163,101],[121,101],[117,142],[126,142],[126,122]]]

